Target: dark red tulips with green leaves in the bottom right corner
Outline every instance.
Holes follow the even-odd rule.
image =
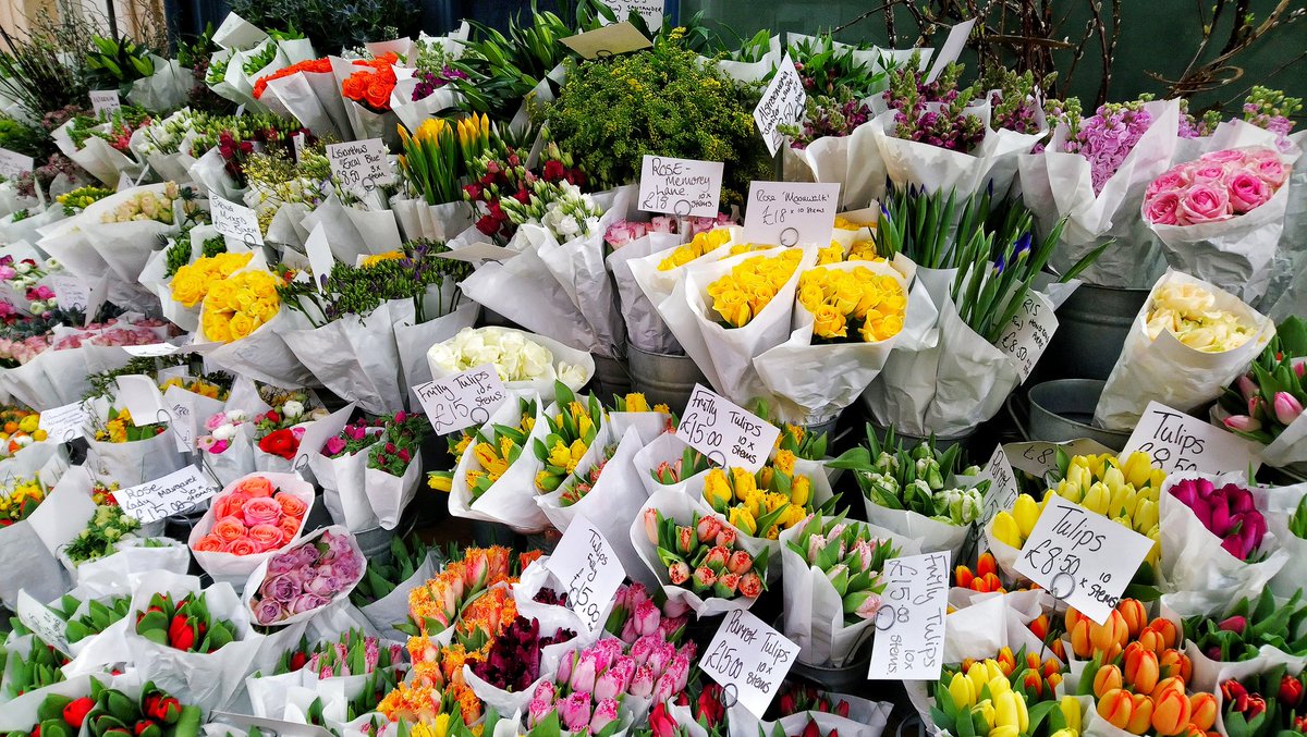
[[[1291,674],[1285,665],[1242,681],[1221,682],[1225,702],[1221,723],[1229,737],[1293,737],[1307,734],[1303,690],[1307,672]]]

